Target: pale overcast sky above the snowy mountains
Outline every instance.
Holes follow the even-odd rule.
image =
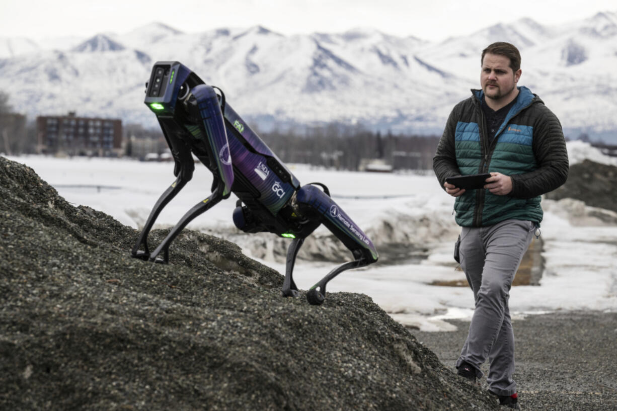
[[[374,27],[439,41],[530,17],[542,25],[617,12],[615,0],[0,0],[0,36],[118,34],[151,22],[188,33],[262,25],[289,35]]]

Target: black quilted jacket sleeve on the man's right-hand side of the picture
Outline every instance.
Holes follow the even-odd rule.
[[[536,104],[533,149],[538,168],[512,175],[510,196],[531,198],[548,193],[563,185],[568,178],[568,152],[561,123],[544,104]]]

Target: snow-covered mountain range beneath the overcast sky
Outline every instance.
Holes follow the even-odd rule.
[[[162,23],[80,42],[0,38],[0,89],[31,116],[77,110],[154,126],[144,83],[154,62],[178,60],[261,128],[339,121],[441,133],[452,106],[478,88],[481,51],[494,41],[518,46],[519,84],[571,137],[617,140],[617,12],[557,27],[521,19],[441,43],[371,28],[284,36],[260,26],[184,33]]]

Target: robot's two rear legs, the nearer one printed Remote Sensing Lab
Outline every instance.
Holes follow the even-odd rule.
[[[358,228],[351,218],[341,210],[336,202],[331,199],[326,193],[316,188],[313,185],[302,186],[296,193],[296,204],[299,212],[310,220],[318,220],[330,230],[336,238],[342,241],[343,244],[354,255],[354,261],[346,262],[334,268],[324,278],[312,286],[307,293],[307,300],[312,305],[320,305],[325,300],[326,284],[334,277],[350,270],[351,268],[364,267],[365,265],[373,264],[379,258],[373,242]],[[293,270],[293,262],[296,258],[297,248],[302,244],[294,246],[294,243],[289,246],[286,282],[284,284],[293,284],[291,272]],[[293,258],[290,261],[290,256],[293,251]],[[288,281],[289,277],[289,281]],[[283,288],[283,292],[285,289]]]

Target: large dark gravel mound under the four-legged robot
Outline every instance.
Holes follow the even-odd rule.
[[[194,231],[143,262],[137,235],[0,157],[0,409],[497,409],[370,297],[284,299]]]

